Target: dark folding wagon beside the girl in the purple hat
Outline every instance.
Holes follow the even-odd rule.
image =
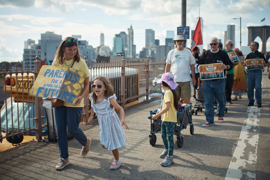
[[[173,134],[177,136],[177,146],[179,148],[183,146],[183,142],[184,142],[181,131],[183,129],[186,129],[188,124],[190,124],[190,134],[191,135],[194,134],[194,127],[192,123],[192,115],[190,113],[190,109],[191,109],[191,104],[188,105],[187,108],[185,107],[184,109],[182,109],[182,111],[176,111],[177,123],[174,127]],[[151,125],[151,132],[149,134],[149,142],[150,142],[150,145],[152,146],[154,146],[157,141],[157,136],[155,135],[155,133],[161,133],[161,122],[162,122],[161,116],[158,117],[156,120],[152,119],[153,114],[156,114],[157,111],[158,109],[154,111],[149,111],[150,116],[148,117],[148,119],[150,119],[150,125]]]

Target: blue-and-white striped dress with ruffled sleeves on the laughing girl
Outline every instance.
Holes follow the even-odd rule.
[[[110,107],[110,98],[116,100],[116,95],[104,99],[101,103],[94,104],[93,96],[90,94],[91,107],[98,116],[99,136],[101,144],[108,150],[120,148],[126,144],[125,133],[121,126],[114,107]]]

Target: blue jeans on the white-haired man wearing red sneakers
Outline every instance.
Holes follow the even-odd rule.
[[[214,98],[217,99],[217,116],[222,117],[226,107],[225,79],[203,80],[202,93],[206,121],[214,123]]]

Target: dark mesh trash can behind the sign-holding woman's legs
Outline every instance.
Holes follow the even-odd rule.
[[[42,98],[43,107],[45,108],[47,116],[47,128],[48,128],[48,141],[57,142],[57,132],[54,121],[53,108],[51,107],[51,101]],[[67,140],[73,139],[73,136],[67,131]]]

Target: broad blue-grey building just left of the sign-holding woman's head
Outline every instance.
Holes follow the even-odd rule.
[[[53,61],[57,48],[62,41],[62,35],[53,32],[41,34],[41,59]]]

